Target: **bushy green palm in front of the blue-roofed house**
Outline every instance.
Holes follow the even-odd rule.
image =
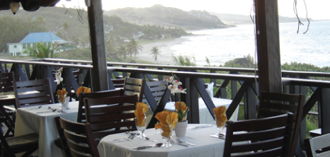
[[[23,54],[29,54],[30,57],[35,58],[54,58],[55,52],[59,50],[59,46],[55,43],[50,49],[50,44],[45,45],[42,41],[37,43],[35,47],[28,46],[27,50],[23,51]]]

